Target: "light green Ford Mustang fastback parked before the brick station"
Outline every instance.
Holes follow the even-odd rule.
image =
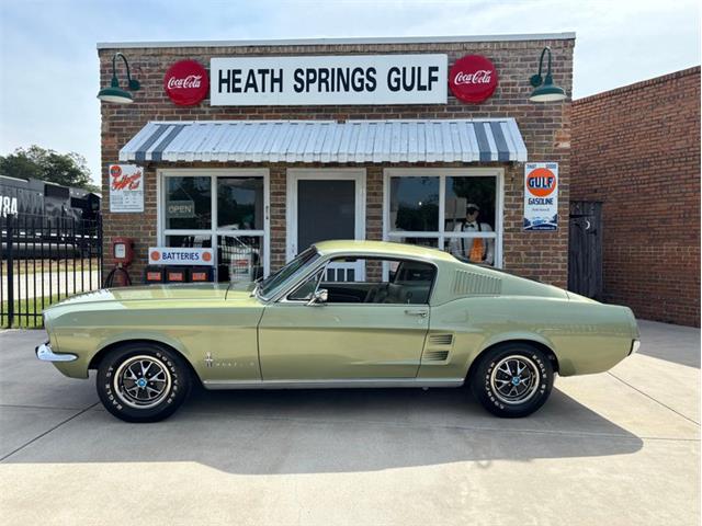
[[[638,346],[630,309],[463,263],[433,249],[317,243],[256,284],[98,290],[44,312],[36,348],[66,376],[97,369],[129,422],[207,389],[460,387],[524,416],[554,375],[601,373]]]

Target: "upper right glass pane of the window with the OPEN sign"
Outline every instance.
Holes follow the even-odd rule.
[[[263,178],[217,178],[217,228],[263,229]]]

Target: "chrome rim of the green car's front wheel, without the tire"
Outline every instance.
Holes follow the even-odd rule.
[[[171,389],[171,374],[155,356],[133,356],[114,375],[117,398],[126,405],[149,409],[158,405]]]

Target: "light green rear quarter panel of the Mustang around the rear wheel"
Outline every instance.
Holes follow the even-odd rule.
[[[635,338],[625,307],[561,298],[468,297],[431,308],[429,334],[453,333],[444,364],[422,359],[419,377],[465,377],[486,348],[524,340],[555,354],[561,376],[601,373],[629,355]]]

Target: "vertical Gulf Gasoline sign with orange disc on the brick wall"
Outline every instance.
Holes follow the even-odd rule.
[[[558,229],[558,163],[524,165],[524,230]]]

